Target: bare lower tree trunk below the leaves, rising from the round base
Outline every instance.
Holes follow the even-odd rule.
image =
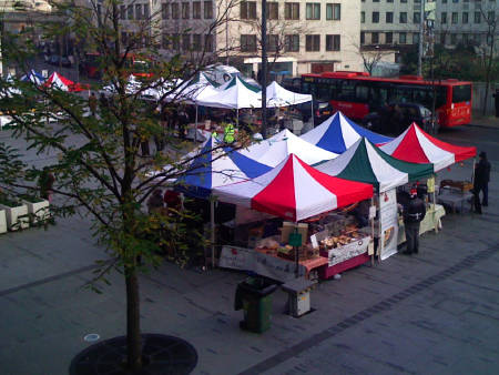
[[[125,267],[126,281],[126,352],[132,371],[142,368],[139,277],[134,266]]]

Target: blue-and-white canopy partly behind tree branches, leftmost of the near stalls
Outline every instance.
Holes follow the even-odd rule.
[[[206,197],[213,188],[253,179],[271,170],[237,151],[217,145],[211,136],[198,150],[189,153],[195,159],[187,166],[189,172],[176,180],[179,190],[192,196]]]

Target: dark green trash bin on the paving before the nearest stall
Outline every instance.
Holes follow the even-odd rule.
[[[241,328],[262,333],[271,327],[272,293],[277,285],[263,277],[248,277],[237,284],[234,310],[244,310]]]

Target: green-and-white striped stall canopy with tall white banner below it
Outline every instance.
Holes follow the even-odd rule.
[[[428,178],[434,173],[432,164],[416,164],[397,160],[384,153],[366,138],[359,139],[338,158],[316,168],[328,175],[373,184],[376,190],[377,206],[375,233],[380,239],[377,251],[381,260],[397,252],[400,226],[395,189],[408,182]],[[431,221],[431,217],[438,222],[439,217],[434,214],[429,213],[427,216],[428,222]]]

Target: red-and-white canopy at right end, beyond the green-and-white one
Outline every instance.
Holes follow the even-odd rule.
[[[424,132],[416,123],[380,149],[407,162],[434,163],[435,172],[477,154],[476,148],[461,148],[439,141]]]

